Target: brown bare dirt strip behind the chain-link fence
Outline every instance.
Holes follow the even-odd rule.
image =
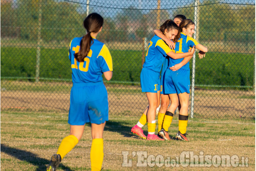
[[[107,87],[110,89],[111,87]],[[115,87],[117,88],[117,87]],[[139,116],[148,105],[144,93],[128,93],[134,87],[120,86],[121,93],[109,91],[110,114]],[[124,92],[127,90],[127,93]],[[255,93],[252,91],[196,90],[194,117],[255,118]],[[191,107],[189,106],[189,110]],[[1,110],[68,112],[69,93],[1,91]],[[190,111],[189,111],[190,113]]]

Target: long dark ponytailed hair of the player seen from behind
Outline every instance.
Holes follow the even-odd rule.
[[[87,34],[83,36],[80,42],[80,50],[75,54],[75,59],[78,62],[83,62],[84,58],[90,51],[90,47],[93,44],[93,38],[91,32],[97,33],[102,27],[104,19],[100,14],[92,13],[89,14],[83,21],[83,27],[86,29]]]

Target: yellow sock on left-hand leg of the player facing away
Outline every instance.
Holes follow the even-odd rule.
[[[60,155],[61,159],[63,159],[63,157],[65,157],[65,155],[67,155],[68,152],[70,152],[77,143],[78,143],[77,137],[73,135],[66,136],[61,141],[56,154]]]

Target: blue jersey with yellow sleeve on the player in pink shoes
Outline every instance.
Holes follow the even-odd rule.
[[[143,67],[160,72],[165,56],[171,52],[169,46],[157,35],[154,35],[148,44],[146,59]]]

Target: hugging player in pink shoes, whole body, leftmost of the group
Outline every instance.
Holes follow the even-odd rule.
[[[161,25],[160,30],[169,39],[177,40],[178,26],[171,20],[167,20]],[[159,138],[154,134],[156,128],[156,108],[159,106],[160,97],[160,70],[165,56],[171,56],[175,59],[184,58],[186,56],[191,56],[194,52],[175,54],[171,51],[166,43],[160,37],[154,36],[148,45],[148,50],[146,53],[146,60],[143,64],[142,72],[140,75],[142,92],[146,93],[148,98],[148,108],[145,110],[146,114],[142,114],[141,119],[137,125],[135,125],[131,132],[137,134],[141,138],[146,139],[143,134],[142,126],[148,122],[148,137],[149,140],[159,140]]]

